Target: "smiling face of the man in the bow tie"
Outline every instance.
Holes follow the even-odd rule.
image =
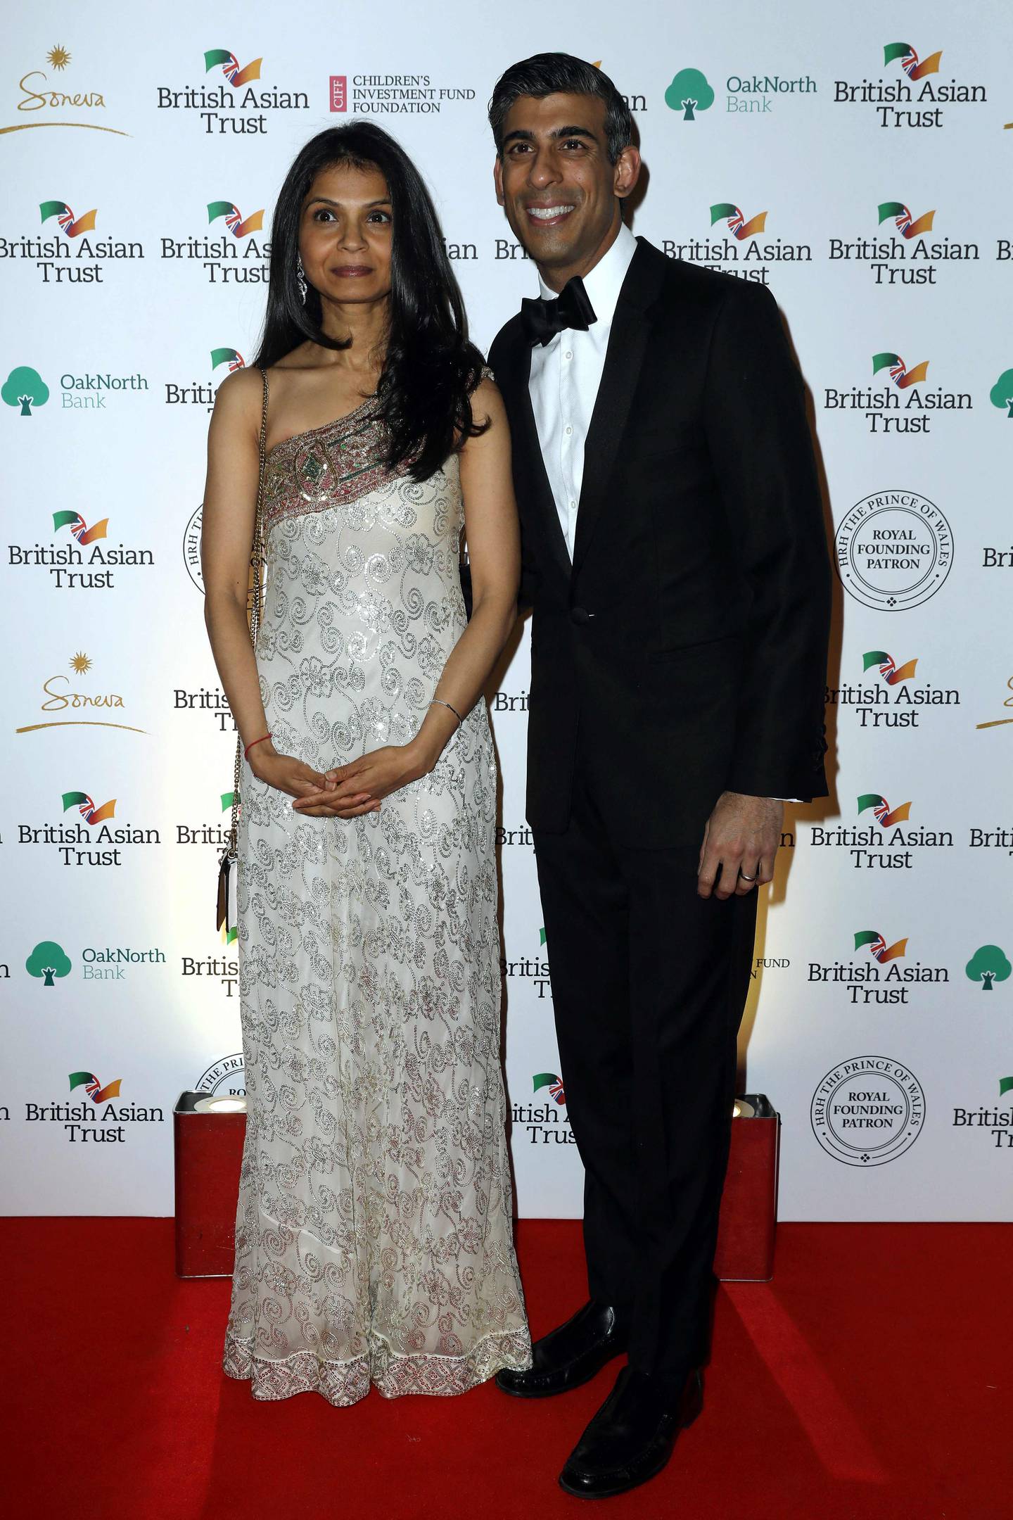
[[[609,163],[598,96],[521,96],[503,122],[494,173],[510,228],[545,283],[562,290],[615,239],[618,202],[636,184],[639,154],[626,147]]]

